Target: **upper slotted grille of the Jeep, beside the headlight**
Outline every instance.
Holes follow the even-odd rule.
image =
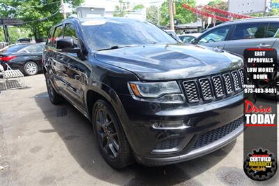
[[[188,80],[183,82],[186,97],[189,103],[199,101],[211,101],[213,99],[225,98],[234,92],[240,92],[245,83],[244,71],[232,71],[229,73]]]

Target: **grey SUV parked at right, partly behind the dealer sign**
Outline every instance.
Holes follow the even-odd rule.
[[[241,56],[246,48],[275,48],[279,59],[279,17],[225,22],[204,32],[193,43],[220,48]],[[255,85],[260,88],[277,88],[276,93],[262,96],[279,100],[278,82],[279,73],[275,71],[268,80],[257,80]]]

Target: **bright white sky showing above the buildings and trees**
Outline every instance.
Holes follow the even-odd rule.
[[[124,0],[130,3],[143,4],[145,7],[149,6],[160,6],[164,0]],[[211,0],[196,0],[197,5],[207,4]],[[102,6],[107,11],[113,11],[119,0],[85,0],[84,5],[86,6]]]

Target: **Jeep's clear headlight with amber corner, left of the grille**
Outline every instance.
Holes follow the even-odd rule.
[[[165,94],[179,94],[181,90],[176,81],[160,83],[130,82],[131,93],[137,97],[159,98]]]

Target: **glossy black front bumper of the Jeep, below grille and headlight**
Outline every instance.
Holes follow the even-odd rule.
[[[227,145],[243,131],[242,93],[197,106],[136,101],[131,96],[123,95],[119,98],[127,115],[127,118],[121,115],[123,129],[137,161],[145,165],[173,164],[206,155]],[[153,127],[154,121],[183,121],[187,125],[160,129]],[[225,135],[193,148],[203,134],[235,121],[238,124]]]

